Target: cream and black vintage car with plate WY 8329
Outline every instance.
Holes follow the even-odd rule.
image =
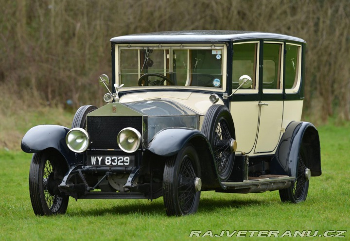
[[[201,191],[279,190],[306,199],[321,175],[315,126],[300,121],[300,38],[243,31],[131,34],[111,42],[106,104],[81,106],[71,128],[22,139],[36,215],[74,199],[156,199],[168,216],[197,211]]]

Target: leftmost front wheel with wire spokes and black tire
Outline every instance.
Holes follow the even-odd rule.
[[[67,211],[69,196],[60,193],[68,167],[62,163],[56,152],[35,153],[29,171],[29,194],[35,215],[64,214]]]

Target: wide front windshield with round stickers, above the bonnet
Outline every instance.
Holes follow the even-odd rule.
[[[118,46],[117,82],[222,88],[224,46]]]

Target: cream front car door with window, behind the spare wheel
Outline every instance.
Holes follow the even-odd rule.
[[[253,151],[259,123],[259,41],[234,43],[232,47],[232,93],[230,111],[235,125],[237,151]],[[252,79],[250,86],[241,86],[241,76]],[[239,89],[238,89],[239,88]]]

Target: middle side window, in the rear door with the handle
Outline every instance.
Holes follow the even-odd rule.
[[[264,43],[263,45],[263,89],[281,89],[281,52],[282,44]],[[264,91],[265,92],[265,91]],[[268,91],[267,91],[268,92]]]

